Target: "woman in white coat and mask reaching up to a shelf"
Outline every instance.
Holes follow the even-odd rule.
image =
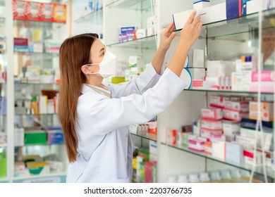
[[[190,46],[202,22],[195,12],[181,31],[168,68],[164,56],[176,36],[173,23],[161,33],[157,53],[140,77],[118,85],[102,84],[116,56],[106,51],[97,34],[66,39],[60,49],[59,120],[70,165],[67,182],[130,182],[132,147],[128,125],[151,120],[185,88],[180,79]]]

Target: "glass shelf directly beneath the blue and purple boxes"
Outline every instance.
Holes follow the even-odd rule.
[[[133,39],[127,42],[118,42],[108,44],[107,47],[123,47],[131,49],[157,49],[155,36],[143,37],[140,39]]]

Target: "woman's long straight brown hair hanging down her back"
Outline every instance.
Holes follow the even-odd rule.
[[[81,66],[91,63],[90,49],[97,34],[79,34],[66,39],[59,50],[61,83],[58,113],[63,130],[69,162],[78,156],[78,135],[75,132],[76,106],[82,83],[86,81]]]

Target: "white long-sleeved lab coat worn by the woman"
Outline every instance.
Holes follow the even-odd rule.
[[[128,125],[151,120],[184,87],[183,80],[171,70],[167,68],[160,76],[152,65],[132,82],[109,84],[113,98],[83,84],[75,122],[79,155],[68,167],[66,182],[130,182],[132,146]]]

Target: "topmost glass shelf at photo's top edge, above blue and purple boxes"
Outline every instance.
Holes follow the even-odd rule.
[[[150,11],[151,1],[149,0],[115,0],[106,4],[108,8],[126,8],[136,11]]]

